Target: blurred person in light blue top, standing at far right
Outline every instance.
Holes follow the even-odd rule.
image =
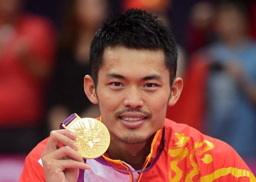
[[[256,43],[248,37],[247,9],[240,3],[218,7],[219,40],[207,48],[207,134],[243,156],[256,156]]]

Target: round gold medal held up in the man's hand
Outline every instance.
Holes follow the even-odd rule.
[[[108,150],[110,134],[108,128],[99,120],[77,116],[70,124],[62,126],[76,133],[77,151],[84,159],[98,158]]]

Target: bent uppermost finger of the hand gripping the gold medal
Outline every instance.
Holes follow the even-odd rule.
[[[59,143],[70,146],[71,148],[77,150],[78,146],[73,141],[76,138],[77,136],[75,133],[66,129],[51,131],[44,153],[48,154],[57,150]]]

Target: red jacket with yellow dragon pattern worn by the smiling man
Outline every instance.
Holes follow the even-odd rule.
[[[159,130],[151,144],[151,153],[143,168],[160,149],[162,131]],[[26,157],[20,182],[45,181],[41,153],[48,139],[39,143]],[[104,158],[113,166],[133,170],[125,162]],[[87,159],[92,167],[84,171],[85,181],[113,182],[256,182],[256,178],[241,157],[230,145],[201,134],[184,124],[165,120],[165,148],[153,168],[145,173],[120,173],[94,159]]]

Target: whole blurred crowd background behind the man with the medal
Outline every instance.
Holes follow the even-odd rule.
[[[70,114],[99,116],[83,91],[90,42],[102,20],[134,7],[178,43],[184,88],[167,117],[227,142],[256,174],[254,0],[0,0],[0,182],[17,181],[26,154]]]

